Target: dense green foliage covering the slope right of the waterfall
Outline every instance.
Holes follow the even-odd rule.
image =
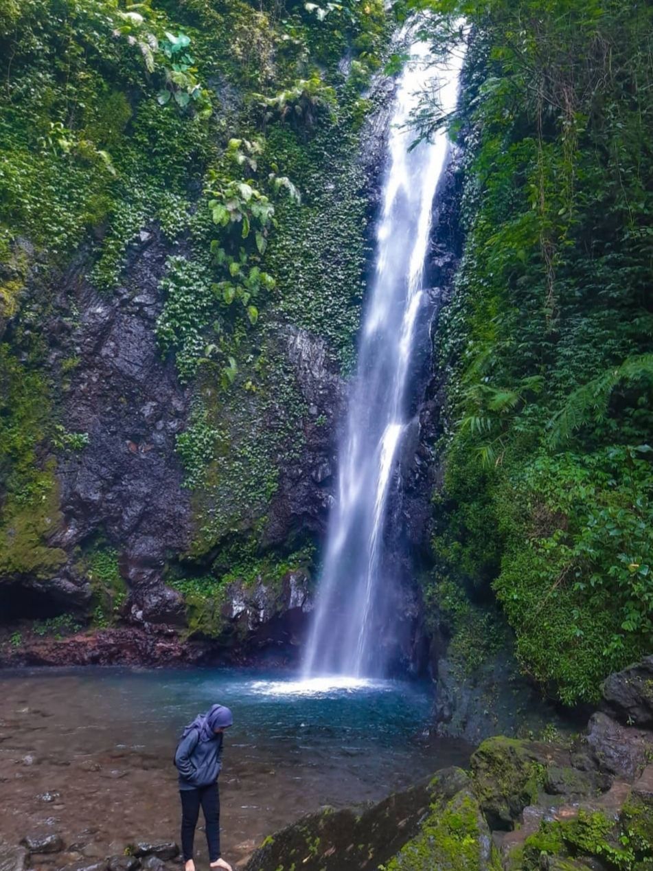
[[[475,27],[448,371],[441,571],[496,598],[525,672],[567,704],[650,650],[651,15],[614,0],[433,0]]]

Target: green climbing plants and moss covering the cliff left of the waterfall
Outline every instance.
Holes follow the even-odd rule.
[[[390,24],[380,0],[0,0],[4,576],[46,578],[64,563],[49,546],[57,463],[90,443],[55,413],[80,364],[72,345],[49,361],[61,275],[76,260],[109,296],[138,234],[157,228],[170,252],[158,342],[194,397],[178,435],[193,553],[262,529],[306,413],[279,330],[310,327],[343,365],[353,357],[367,254],[361,91]],[[268,436],[266,417],[278,424]],[[93,583],[105,625],[124,585]]]

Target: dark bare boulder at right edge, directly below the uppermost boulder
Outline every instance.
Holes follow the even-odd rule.
[[[653,734],[621,726],[603,712],[589,719],[587,743],[602,771],[632,781],[653,750]]]

